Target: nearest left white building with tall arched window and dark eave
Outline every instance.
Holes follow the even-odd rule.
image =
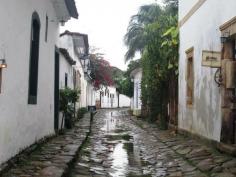
[[[57,129],[56,46],[71,17],[74,0],[1,0],[0,164]]]

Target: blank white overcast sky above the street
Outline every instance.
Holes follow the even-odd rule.
[[[111,65],[126,69],[123,39],[130,17],[141,5],[162,0],[75,0],[78,20],[70,20],[61,32],[69,30],[88,34],[90,46],[100,48]]]

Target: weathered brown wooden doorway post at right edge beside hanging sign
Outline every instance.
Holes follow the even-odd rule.
[[[225,79],[225,83],[230,83],[235,76],[229,74],[234,68],[233,63],[236,61],[235,58],[235,39],[233,36],[229,37],[228,41],[223,43],[222,47],[222,67],[221,73],[222,78]],[[229,70],[232,70],[229,72]],[[235,72],[232,72],[235,73]],[[235,120],[236,120],[236,109],[234,108],[236,103],[236,85],[222,84],[221,85],[221,110],[222,110],[222,122],[221,122],[221,142],[226,144],[235,144]]]

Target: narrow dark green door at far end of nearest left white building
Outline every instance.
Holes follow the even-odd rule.
[[[59,52],[55,49],[55,75],[54,75],[54,129],[59,127]]]

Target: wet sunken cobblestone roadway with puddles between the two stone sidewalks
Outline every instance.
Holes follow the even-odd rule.
[[[147,162],[144,142],[130,131],[123,118],[117,112],[107,112],[101,117],[90,137],[91,143],[81,153],[73,177],[78,173],[82,176],[151,177],[155,169]]]

